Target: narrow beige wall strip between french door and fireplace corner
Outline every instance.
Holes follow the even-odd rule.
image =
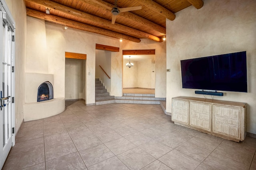
[[[15,129],[23,121],[25,100],[25,60],[26,60],[26,6],[22,0],[5,0],[15,20]]]

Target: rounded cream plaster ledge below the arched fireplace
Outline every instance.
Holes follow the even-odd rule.
[[[24,121],[44,119],[62,113],[64,110],[65,98],[26,103],[24,104]]]

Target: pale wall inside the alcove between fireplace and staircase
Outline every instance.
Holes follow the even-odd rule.
[[[65,60],[65,100],[83,99],[85,60]]]

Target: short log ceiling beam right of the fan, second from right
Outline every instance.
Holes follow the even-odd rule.
[[[158,3],[152,1],[152,0],[135,0],[138,3],[146,6],[147,8],[150,8],[150,10],[153,10],[155,12],[158,12],[158,14],[164,16],[165,18],[173,21],[175,19],[175,14],[173,14],[171,11],[167,10],[163,6],[159,5]]]

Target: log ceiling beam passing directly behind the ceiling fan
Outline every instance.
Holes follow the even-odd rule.
[[[86,4],[96,6],[97,8],[100,8],[104,11],[109,11],[109,12],[114,7],[114,5],[109,4],[108,2],[105,2],[103,0],[80,0],[80,1],[84,2]],[[130,20],[130,21],[136,22],[136,23],[142,25],[143,27],[145,27],[145,26],[150,27],[150,28],[154,29],[155,31],[158,31],[159,33],[166,34],[166,28],[164,28],[152,21],[146,20],[140,16],[132,14],[131,12],[121,12],[120,14],[118,14],[118,16],[124,17],[125,19]]]

